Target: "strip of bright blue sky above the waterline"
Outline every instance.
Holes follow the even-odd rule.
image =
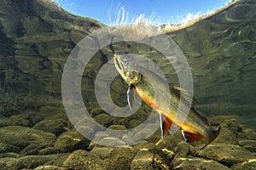
[[[115,19],[116,9],[125,8],[130,20],[140,14],[149,18],[154,13],[154,20],[164,24],[179,22],[199,12],[205,14],[230,0],[55,0],[55,2],[73,14],[90,17],[109,25],[109,18],[112,21]]]

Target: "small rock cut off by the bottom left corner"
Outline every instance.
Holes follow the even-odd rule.
[[[4,157],[0,158],[0,169],[2,170],[9,170],[9,169],[22,169],[25,165],[22,164],[16,158]]]

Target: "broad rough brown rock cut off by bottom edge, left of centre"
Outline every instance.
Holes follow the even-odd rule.
[[[133,156],[134,150],[131,147],[103,147],[91,150],[91,152],[76,150],[64,161],[63,167],[78,170],[130,169]]]

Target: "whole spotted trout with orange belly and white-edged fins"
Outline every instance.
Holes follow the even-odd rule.
[[[158,112],[162,136],[168,132],[172,133],[172,126],[180,127],[185,141],[189,143],[204,139],[206,146],[218,136],[220,127],[214,130],[207,118],[195,111],[193,106],[190,107],[187,99],[181,96],[181,91],[186,94],[184,90],[176,87],[169,88],[162,77],[137,65],[129,55],[114,54],[113,60],[117,71],[129,84],[127,98],[130,108],[132,109],[135,96],[138,96],[145,104]],[[176,116],[178,106],[189,107],[189,113],[185,119]]]

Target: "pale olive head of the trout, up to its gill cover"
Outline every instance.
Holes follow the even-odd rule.
[[[127,54],[114,54],[113,62],[117,71],[125,82],[128,84],[136,84],[142,78],[141,73],[138,71],[138,65],[132,61],[131,56]]]

